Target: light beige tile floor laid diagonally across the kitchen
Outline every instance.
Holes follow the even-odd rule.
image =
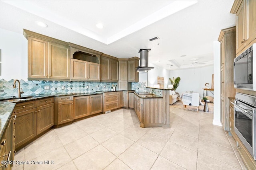
[[[170,107],[170,129],[140,128],[134,110],[119,109],[52,129],[15,154],[30,164],[13,170],[246,169],[234,139],[212,118]]]

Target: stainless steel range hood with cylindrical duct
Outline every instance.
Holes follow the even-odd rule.
[[[148,70],[154,68],[148,66],[148,51],[150,50],[151,49],[140,49],[140,66],[137,67],[136,71],[148,72]]]

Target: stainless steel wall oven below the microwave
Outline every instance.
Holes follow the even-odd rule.
[[[256,96],[237,92],[234,102],[236,135],[256,160]]]

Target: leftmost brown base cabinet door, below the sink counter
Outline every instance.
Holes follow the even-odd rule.
[[[15,148],[36,136],[36,108],[16,113]]]

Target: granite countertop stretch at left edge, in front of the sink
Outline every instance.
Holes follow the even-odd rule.
[[[2,135],[8,125],[14,107],[15,103],[0,102],[0,139],[2,139]]]

